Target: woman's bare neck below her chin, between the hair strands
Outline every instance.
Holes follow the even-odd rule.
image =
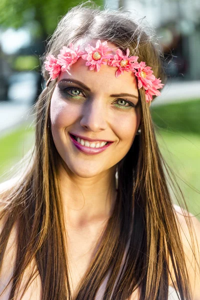
[[[107,220],[116,198],[116,166],[91,178],[79,177],[59,167],[61,199],[67,226],[80,228]]]

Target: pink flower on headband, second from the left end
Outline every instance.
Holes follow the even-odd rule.
[[[80,46],[78,45],[74,48],[74,45],[70,42],[69,47],[63,46],[60,50],[60,54],[57,55],[57,61],[61,65],[61,71],[67,71],[69,73],[69,69],[73,63],[77,61],[83,51],[79,50]],[[69,73],[70,74],[70,73]]]

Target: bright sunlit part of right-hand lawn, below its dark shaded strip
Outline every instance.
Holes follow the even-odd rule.
[[[200,135],[159,130],[157,141],[160,151],[176,174],[188,210],[200,213]],[[177,201],[174,199],[177,204]],[[180,205],[183,206],[183,205]],[[200,220],[200,214],[198,215]]]

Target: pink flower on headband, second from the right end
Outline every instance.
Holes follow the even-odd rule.
[[[151,67],[146,66],[144,61],[138,63],[137,71],[133,71],[138,80],[138,88],[143,86],[144,89],[147,90],[152,86],[152,81],[155,80],[155,76],[152,74],[153,71],[151,70]]]

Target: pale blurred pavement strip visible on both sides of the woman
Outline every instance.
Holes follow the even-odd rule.
[[[161,96],[152,102],[152,106],[199,98],[200,81],[170,82],[163,87]],[[0,102],[0,136],[5,134],[7,130],[12,130],[14,126],[25,121],[30,113],[29,104],[8,101]]]

